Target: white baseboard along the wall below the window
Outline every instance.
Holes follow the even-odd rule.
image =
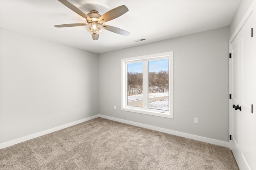
[[[188,134],[188,133],[184,133],[184,132],[178,132],[178,131],[175,131],[175,130],[155,127],[155,126],[146,125],[146,124],[142,124],[142,123],[126,121],[124,119],[118,119],[118,118],[109,117],[109,116],[105,116],[105,115],[98,115],[98,116],[101,117],[101,118],[104,118],[104,119],[112,120],[112,121],[126,123],[126,124],[129,124],[129,125],[134,125],[134,126],[142,127],[142,128],[148,128],[148,129],[156,130],[156,131],[159,131],[159,132],[174,134],[176,136],[181,136],[181,137],[184,137],[184,138],[194,139],[194,140],[198,140],[198,141],[201,141],[201,142],[216,144],[216,145],[219,145],[219,146],[224,146],[224,147],[230,148],[230,143],[229,142],[224,142],[224,141],[221,141],[221,140],[206,138],[206,137],[197,136],[197,135],[194,135],[194,134]]]

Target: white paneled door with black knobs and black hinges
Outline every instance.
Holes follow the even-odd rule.
[[[230,142],[240,170],[256,170],[256,35],[252,28],[251,15],[231,44]]]

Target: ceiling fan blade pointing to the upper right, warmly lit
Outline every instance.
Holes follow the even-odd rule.
[[[125,5],[121,5],[118,6],[108,12],[106,12],[105,14],[103,14],[98,21],[102,24],[104,22],[113,20],[121,15],[123,15],[124,13],[128,12],[128,8]]]

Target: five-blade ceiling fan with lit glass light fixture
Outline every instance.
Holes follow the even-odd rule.
[[[82,16],[86,19],[86,23],[76,23],[76,24],[62,24],[62,25],[56,25],[55,27],[61,28],[61,27],[75,27],[75,26],[86,26],[86,29],[88,32],[92,34],[92,40],[98,40],[99,34],[102,32],[103,29],[114,32],[116,34],[121,34],[124,36],[128,36],[130,32],[127,32],[125,30],[122,30],[120,28],[116,28],[113,26],[105,25],[104,22],[113,20],[126,12],[128,12],[128,8],[125,5],[118,6],[108,12],[106,12],[103,15],[100,15],[98,11],[92,10],[87,15],[84,14],[81,10],[79,10],[76,6],[68,2],[67,0],[58,0],[62,4],[64,4],[66,7],[70,8],[70,10],[76,12],[78,15]]]

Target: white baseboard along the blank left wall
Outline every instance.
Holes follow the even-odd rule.
[[[10,140],[8,142],[4,142],[4,143],[1,143],[0,144],[0,149],[2,148],[6,148],[6,147],[9,147],[9,146],[12,146],[14,144],[18,144],[18,143],[21,143],[21,142],[24,142],[26,140],[30,140],[30,139],[33,139],[33,138],[37,138],[39,136],[43,136],[45,134],[49,134],[49,133],[52,133],[52,132],[55,132],[57,130],[61,130],[61,129],[64,129],[64,128],[67,128],[67,127],[71,127],[71,126],[74,126],[74,125],[77,125],[79,123],[83,123],[83,122],[86,122],[86,121],[90,121],[92,119],[95,119],[99,117],[99,115],[94,115],[92,117],[87,117],[85,119],[81,119],[81,120],[78,120],[78,121],[74,121],[74,122],[71,122],[71,123],[67,123],[65,125],[61,125],[61,126],[58,126],[58,127],[54,127],[54,128],[50,128],[50,129],[47,129],[47,130],[44,130],[42,132],[37,132],[37,133],[34,133],[34,134],[30,134],[28,136],[24,136],[24,137],[21,137],[21,138],[18,138],[18,139],[14,139],[14,140]]]

